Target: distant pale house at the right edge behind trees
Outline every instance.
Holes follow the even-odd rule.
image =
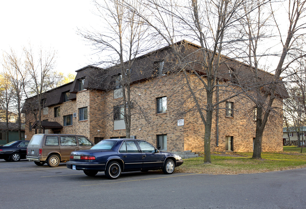
[[[289,144],[289,137],[290,142],[292,145],[298,144],[298,132],[300,134],[300,145],[302,144],[302,137],[303,137],[303,144],[305,144],[306,140],[306,126],[303,127],[288,127],[283,128],[283,144]],[[288,137],[289,133],[289,137]]]

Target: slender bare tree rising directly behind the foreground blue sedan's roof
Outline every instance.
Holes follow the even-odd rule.
[[[130,1],[138,9],[138,1]],[[107,58],[97,64],[102,64],[105,69],[99,78],[91,77],[98,85],[108,80],[110,89],[114,88],[118,96],[114,101],[115,107],[107,108],[106,116],[112,114],[123,118],[125,122],[126,138],[130,138],[131,117],[140,115],[148,119],[146,113],[138,105],[136,98],[132,98],[132,75],[139,73],[137,68],[132,68],[136,57],[150,49],[148,46],[147,27],[141,23],[140,18],[129,12],[122,0],[95,1],[98,15],[106,25],[99,31],[80,32],[81,35],[102,52]],[[120,98],[120,99],[119,99]]]

